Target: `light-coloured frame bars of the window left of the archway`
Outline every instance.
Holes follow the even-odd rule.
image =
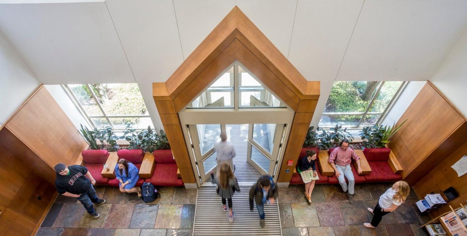
[[[101,104],[99,103],[99,100],[97,99],[96,94],[94,94],[94,91],[92,90],[91,86],[89,86],[88,83],[81,83],[81,84],[84,84],[86,86],[86,88],[90,91],[92,98],[94,98],[94,100],[96,101],[96,104],[99,107],[99,110],[102,112],[103,116],[90,116],[90,115],[88,115],[86,113],[85,109],[83,108],[83,106],[79,103],[78,98],[75,96],[75,94],[73,94],[73,91],[71,91],[68,84],[62,84],[62,86],[65,89],[65,91],[67,92],[68,97],[70,97],[71,101],[78,108],[81,115],[86,119],[88,125],[90,125],[93,129],[94,128],[99,129],[99,127],[96,127],[96,125],[94,125],[94,123],[92,122],[92,118],[105,118],[113,131],[126,131],[127,129],[126,128],[125,129],[116,129],[113,126],[113,124],[112,124],[112,122],[110,121],[109,118],[151,118],[151,116],[149,114],[148,115],[107,115],[105,110],[102,108]],[[140,91],[140,94],[141,94],[141,91]],[[142,97],[142,95],[141,95],[141,97]],[[146,104],[144,104],[144,105],[146,105]],[[151,123],[152,123],[152,119],[151,119]],[[153,126],[154,126],[154,124],[153,124]],[[107,127],[107,126],[105,126],[105,127]],[[140,128],[137,128],[137,129],[140,129]],[[141,128],[141,129],[144,129],[144,128]]]

